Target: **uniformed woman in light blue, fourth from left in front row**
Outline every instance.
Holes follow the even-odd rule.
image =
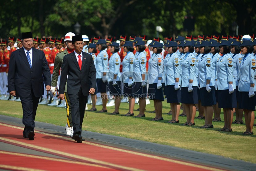
[[[129,112],[125,116],[134,116],[133,109],[135,105],[135,99],[132,97],[133,94],[133,64],[135,56],[133,54],[134,48],[132,42],[126,41],[124,46],[124,52],[126,56],[123,59],[123,73],[122,73],[122,82],[124,83],[123,94],[125,97],[129,97]]]

